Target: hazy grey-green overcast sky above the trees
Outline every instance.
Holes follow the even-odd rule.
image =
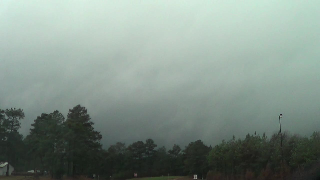
[[[320,130],[320,1],[0,1],[0,108],[88,109],[105,147]]]

